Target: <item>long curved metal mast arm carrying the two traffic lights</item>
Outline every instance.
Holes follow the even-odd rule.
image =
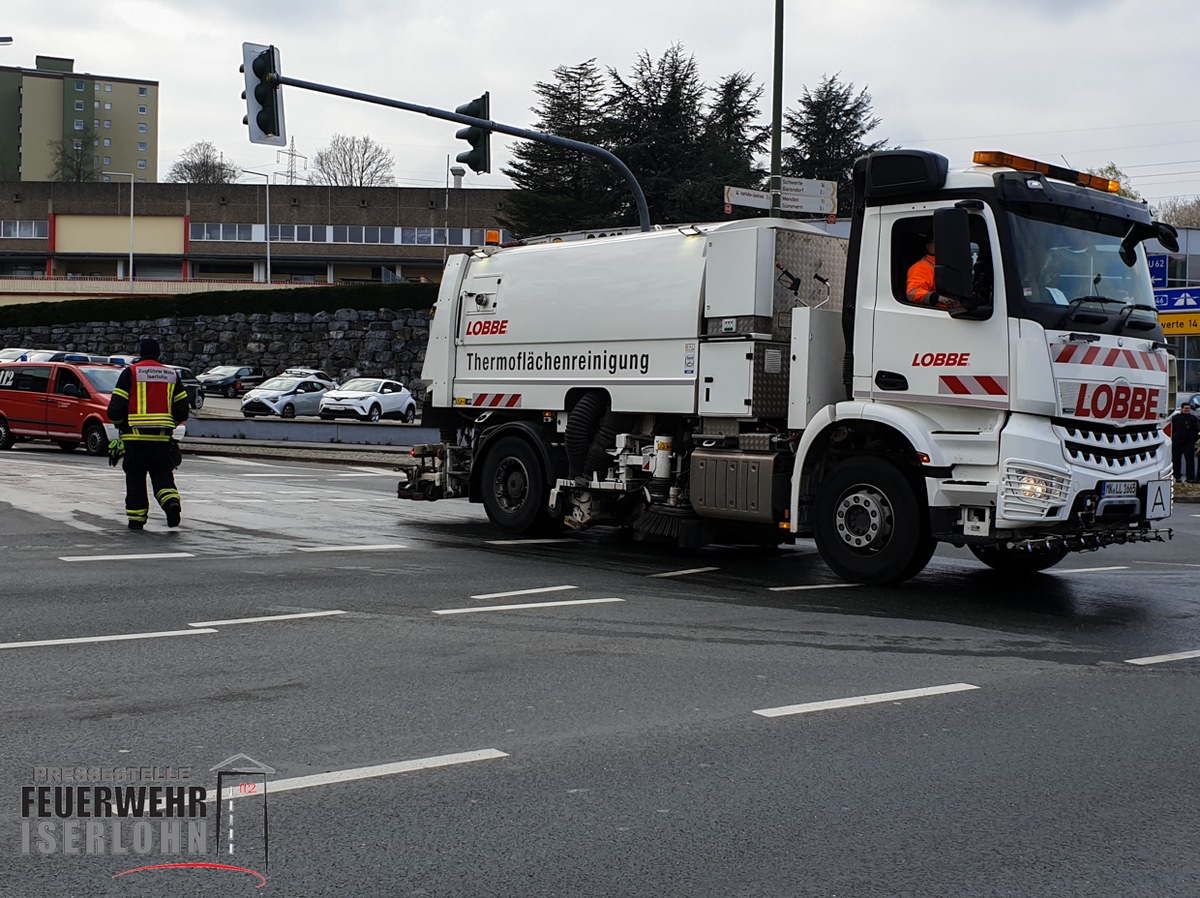
[[[625,179],[625,182],[629,184],[629,187],[634,193],[634,202],[637,204],[637,217],[642,231],[650,229],[650,214],[649,210],[646,208],[646,194],[642,192],[642,185],[637,182],[637,179],[634,176],[634,173],[629,170],[629,166],[626,166],[616,155],[604,149],[602,146],[595,146],[589,143],[583,143],[582,140],[571,140],[568,137],[558,137],[557,134],[544,134],[540,131],[527,131],[526,128],[514,127],[512,125],[504,125],[503,122],[499,121],[491,121],[490,119],[476,118],[475,115],[466,115],[461,112],[450,112],[449,109],[437,109],[432,106],[420,106],[418,103],[404,102],[403,100],[390,100],[388,97],[380,97],[373,94],[362,94],[356,90],[346,90],[344,88],[335,88],[329,84],[318,84],[316,82],[301,80],[300,78],[289,78],[287,76],[278,73],[277,53],[278,52],[276,50],[276,55],[274,56],[275,72],[272,72],[270,77],[270,83],[272,86],[288,85],[290,88],[302,88],[304,90],[314,90],[319,94],[331,94],[332,96],[346,97],[348,100],[361,100],[365,103],[388,106],[391,107],[392,109],[404,109],[406,112],[421,113],[422,115],[428,115],[430,118],[433,119],[444,119],[445,121],[456,121],[460,125],[466,125],[467,127],[458,131],[456,136],[470,143],[472,150],[469,152],[462,154],[458,157],[458,161],[469,164],[476,172],[488,170],[490,168],[491,162],[490,158],[487,157],[488,156],[487,136],[492,131],[496,131],[502,134],[511,134],[512,137],[520,137],[526,140],[538,140],[539,143],[547,143],[551,144],[552,146],[562,146],[563,149],[575,150],[576,152],[583,152],[589,156],[595,156],[600,160],[604,160],[610,166],[620,172],[620,175]],[[487,94],[485,94],[482,97],[479,97],[478,100],[473,100],[470,103],[464,103],[458,108],[464,109],[468,107],[474,107],[475,109],[480,109],[486,115],[487,114],[486,102],[482,106],[475,106],[476,103],[479,103],[480,100],[484,100],[485,97],[487,97]],[[280,98],[276,107],[278,109],[280,121],[282,122],[283,120],[282,98]],[[474,128],[478,128],[479,131],[472,134],[466,133]],[[482,149],[480,149],[480,144],[478,143],[479,138],[482,138],[481,140]],[[470,158],[464,160],[463,156],[470,156]],[[480,164],[481,167],[475,168],[475,164],[472,164],[472,162],[474,162],[475,164]]]

